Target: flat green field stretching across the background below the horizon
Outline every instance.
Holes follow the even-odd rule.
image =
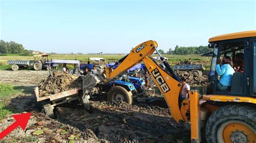
[[[88,58],[98,57],[106,59],[106,62],[116,62],[117,60],[123,58],[125,54],[100,54],[100,55],[89,55],[89,54],[53,54],[49,56],[49,59],[62,59],[62,60],[80,60],[86,62]],[[152,55],[158,56],[158,55]],[[192,61],[200,61],[204,64],[205,68],[210,68],[210,58],[201,56],[201,55],[163,55],[168,58],[168,62],[170,65],[175,65],[179,61],[184,60],[192,60]],[[8,65],[8,60],[33,60],[33,56],[28,55],[2,55],[0,56],[0,70],[10,69],[10,65]]]

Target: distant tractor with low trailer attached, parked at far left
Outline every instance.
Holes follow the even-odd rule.
[[[35,70],[47,69],[50,70],[50,62],[48,60],[49,54],[33,55],[34,60],[8,60],[8,64],[12,65],[12,70],[25,69],[33,67]],[[54,65],[56,68],[58,65]]]

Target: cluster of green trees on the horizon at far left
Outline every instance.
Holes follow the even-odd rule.
[[[29,51],[24,49],[22,44],[10,41],[0,41],[0,54],[29,54]]]

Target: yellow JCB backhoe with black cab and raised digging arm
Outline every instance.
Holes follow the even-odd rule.
[[[173,119],[178,123],[190,121],[191,142],[201,141],[201,131],[205,133],[207,142],[256,142],[256,31],[219,35],[208,42],[213,52],[207,95],[203,97],[199,97],[197,90],[192,90],[190,98],[181,99],[181,82],[157,51],[157,42],[152,40],[133,48],[130,54],[116,62],[119,65],[116,69],[105,67],[104,82],[144,62],[164,95]],[[151,58],[150,55],[155,51],[161,57],[165,69]],[[244,53],[244,73],[234,73],[231,87],[218,90],[218,75],[215,71],[217,59],[223,55],[234,58],[237,53]]]

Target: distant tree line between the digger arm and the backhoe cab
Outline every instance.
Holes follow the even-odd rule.
[[[178,45],[174,50],[171,48],[166,53],[162,50],[158,50],[160,54],[173,54],[173,55],[191,55],[191,54],[206,54],[213,51],[212,48],[208,48],[208,46],[190,46],[190,47],[179,47]]]

